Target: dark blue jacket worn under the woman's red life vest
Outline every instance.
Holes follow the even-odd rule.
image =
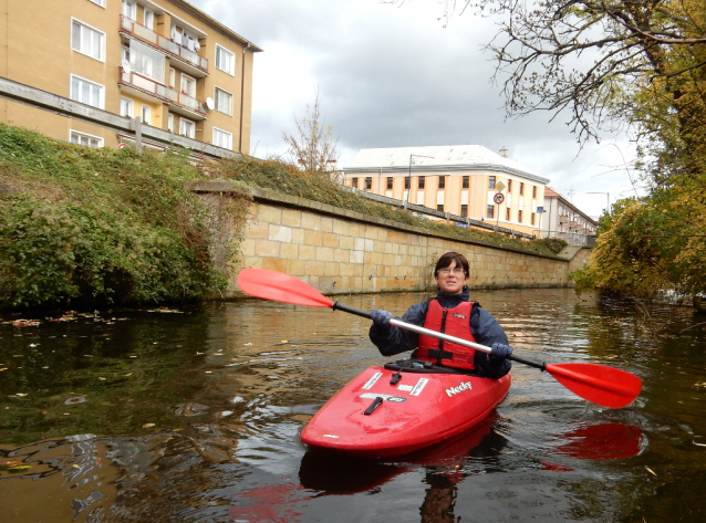
[[[439,291],[436,297],[444,307],[451,308],[461,302],[468,301],[468,290],[464,290],[460,294],[444,294]],[[428,306],[427,302],[412,305],[402,316],[402,321],[412,323],[413,325],[424,326]],[[470,332],[476,338],[476,342],[481,345],[491,346],[494,343],[508,344],[508,337],[505,335],[502,327],[496,318],[492,317],[492,314],[478,304],[474,305],[470,313]],[[380,327],[373,324],[370,330],[370,338],[383,356],[393,356],[417,348],[419,335],[393,325]],[[474,364],[476,372],[478,372],[480,376],[494,379],[501,378],[508,374],[512,365],[509,359],[492,359],[488,353],[480,351],[476,352]]]

